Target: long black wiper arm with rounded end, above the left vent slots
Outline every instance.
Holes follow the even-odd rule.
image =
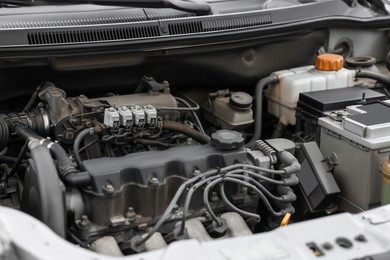
[[[198,15],[206,15],[211,7],[206,2],[187,2],[183,0],[52,0],[46,3],[92,3],[144,8],[172,8]]]

